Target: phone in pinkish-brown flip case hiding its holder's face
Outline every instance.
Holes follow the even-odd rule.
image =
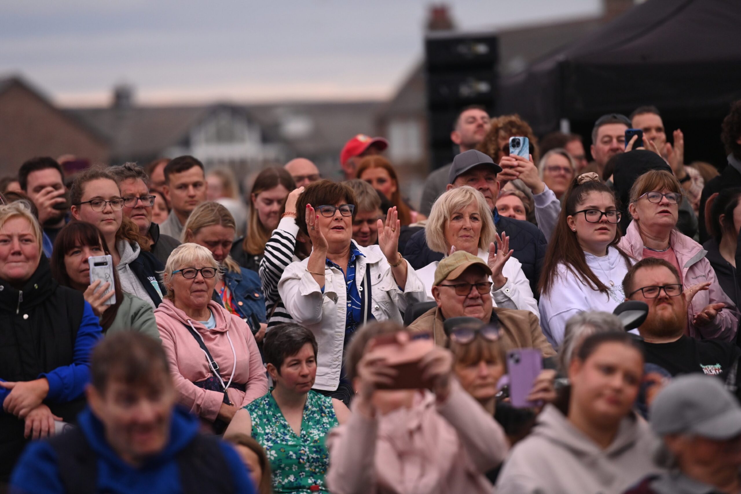
[[[422,390],[431,387],[431,382],[422,379],[419,361],[435,348],[431,333],[407,333],[408,341],[400,342],[396,333],[373,338],[372,353],[386,358],[390,367],[396,369],[396,379],[385,390]]]

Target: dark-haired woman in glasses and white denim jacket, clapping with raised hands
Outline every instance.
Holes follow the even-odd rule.
[[[379,219],[378,245],[353,237],[355,195],[345,184],[308,185],[296,204],[296,224],[311,240],[308,258],[291,263],[278,291],[290,316],[319,344],[314,389],[349,403],[342,356],[356,329],[368,321],[402,323],[399,311],[425,301],[425,287],[399,254],[396,207]]]

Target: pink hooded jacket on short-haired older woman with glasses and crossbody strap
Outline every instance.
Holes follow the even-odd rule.
[[[219,374],[224,379],[224,384],[229,381],[236,353],[233,382],[246,384],[247,392],[243,393],[229,387],[227,394],[232,404],[244,407],[255,398],[268,393],[268,377],[265,375],[265,367],[262,365],[255,337],[252,336],[247,323],[214,301],[208,303],[208,308],[216,318],[216,327],[213,330],[207,330],[199,321],[188,318],[167,298],[159,304],[154,316],[157,319],[159,336],[162,338],[162,347],[170,364],[170,373],[175,381],[179,404],[189,408],[199,417],[214,421],[222,406],[224,394],[207,391],[193,384],[203,381],[213,373],[198,341],[185,327],[188,321],[203,337],[208,351],[219,364]],[[234,353],[229,339],[234,346]]]

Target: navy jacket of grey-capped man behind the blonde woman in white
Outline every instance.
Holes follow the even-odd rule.
[[[504,232],[510,238],[510,249],[514,250],[512,256],[522,263],[522,272],[530,281],[535,298],[538,298],[538,281],[545,258],[545,248],[548,247],[545,236],[538,227],[528,221],[499,216],[496,208],[494,225],[498,233]],[[433,252],[428,247],[425,230],[411,236],[404,253],[404,258],[415,270],[422,269],[433,261],[439,261],[442,257],[441,253]]]

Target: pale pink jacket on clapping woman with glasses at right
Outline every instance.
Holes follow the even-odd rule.
[[[702,248],[702,245],[677,230],[671,231],[669,245],[674,249],[679,266],[682,267],[682,284],[685,289],[704,281],[711,282],[710,290],[697,293],[687,307],[688,335],[693,338],[732,341],[736,336],[739,311],[718,284],[715,271],[710,265],[710,261],[705,258],[708,252]],[[620,240],[619,247],[638,261],[643,258],[643,240],[635,221],[631,221],[631,224],[628,225],[628,230]],[[725,304],[725,308],[718,313],[710,326],[700,328],[692,324],[695,314],[702,311],[708,304],[720,302]]]

